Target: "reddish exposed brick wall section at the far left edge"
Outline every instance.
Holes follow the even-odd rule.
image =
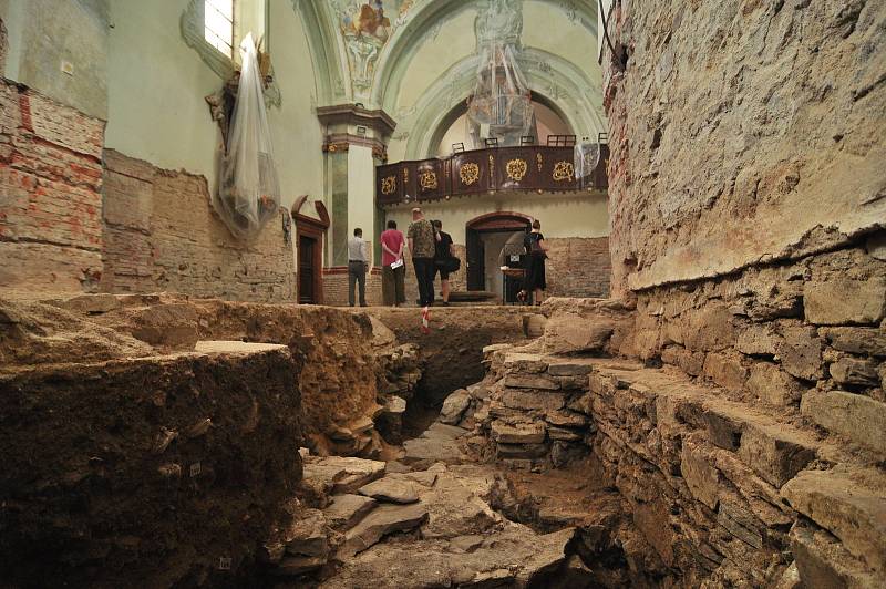
[[[0,289],[92,292],[104,122],[0,81]]]

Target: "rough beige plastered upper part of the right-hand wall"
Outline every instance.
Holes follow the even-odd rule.
[[[886,219],[883,2],[619,2],[606,51],[616,294]]]

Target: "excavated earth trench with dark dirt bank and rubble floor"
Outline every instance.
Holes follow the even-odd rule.
[[[467,407],[441,423],[496,385],[484,348],[529,341],[524,309],[441,309],[430,333],[373,309],[382,347],[323,308],[0,303],[10,587],[645,586],[598,465],[499,461]],[[379,363],[410,396],[390,430],[367,422],[393,411]]]

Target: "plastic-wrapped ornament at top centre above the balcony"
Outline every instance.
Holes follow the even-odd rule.
[[[532,92],[517,63],[523,29],[519,2],[492,0],[477,16],[477,73],[467,102],[467,134],[473,148],[484,140],[498,145],[519,145],[521,137],[537,136]]]

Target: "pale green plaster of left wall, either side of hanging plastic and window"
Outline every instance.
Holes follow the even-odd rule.
[[[106,147],[203,175],[214,190],[222,134],[204,96],[223,81],[182,39],[184,8],[175,0],[113,3]],[[281,204],[289,207],[301,194],[322,195],[322,134],[313,115],[313,72],[301,21],[285,0],[269,0],[267,10],[267,46],[282,94],[281,106],[268,110],[268,122]],[[244,13],[261,27],[255,10]],[[305,206],[303,213],[312,209]]]

